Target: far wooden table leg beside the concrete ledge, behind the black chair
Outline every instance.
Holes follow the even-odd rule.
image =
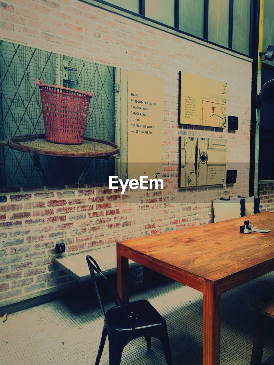
[[[124,304],[129,302],[129,259],[123,257],[117,245],[117,292]]]

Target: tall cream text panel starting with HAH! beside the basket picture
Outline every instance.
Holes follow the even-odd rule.
[[[128,71],[128,177],[161,178],[163,79]]]

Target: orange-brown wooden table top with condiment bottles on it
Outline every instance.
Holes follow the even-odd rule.
[[[249,219],[269,233],[240,234]],[[224,222],[117,242],[130,251],[210,281],[221,281],[269,260],[274,270],[274,213],[262,212]],[[271,271],[271,268],[270,270]]]

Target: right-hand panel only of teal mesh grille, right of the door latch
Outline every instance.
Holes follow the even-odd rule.
[[[64,56],[64,61],[76,69],[68,71],[69,80],[64,81],[64,86],[94,92],[90,101],[85,136],[115,143],[115,69],[68,56]],[[78,167],[82,169],[85,163],[89,163],[85,160],[87,159],[77,158],[81,164]],[[109,175],[114,174],[114,170],[115,161],[112,159],[92,160],[86,181],[108,182]]]

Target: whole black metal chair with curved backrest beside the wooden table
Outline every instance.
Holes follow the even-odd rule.
[[[109,338],[109,365],[119,365],[124,347],[128,342],[137,337],[145,337],[148,350],[151,350],[151,337],[158,338],[163,345],[167,365],[172,365],[167,324],[164,318],[147,300],[137,300],[123,304],[118,293],[103,275],[97,262],[89,255],[86,256],[86,260],[104,316],[103,333],[95,365],[99,365],[107,336]],[[107,290],[115,302],[115,306],[106,312],[100,298],[95,273],[98,273],[103,279]]]

